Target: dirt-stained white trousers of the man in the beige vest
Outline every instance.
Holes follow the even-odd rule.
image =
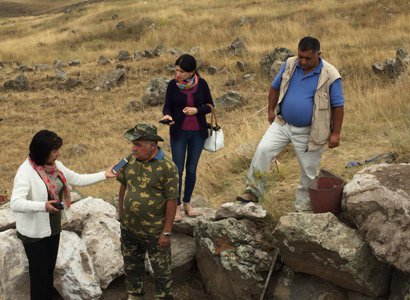
[[[295,208],[297,211],[311,210],[308,186],[318,174],[324,147],[307,151],[309,134],[310,126],[295,127],[287,123],[281,126],[272,122],[259,142],[246,175],[247,190],[258,198],[263,198],[271,161],[289,143],[292,143],[301,170],[300,182],[296,189]]]

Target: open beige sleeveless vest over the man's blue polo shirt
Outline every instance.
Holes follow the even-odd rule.
[[[286,68],[282,74],[282,82],[279,91],[279,101],[276,105],[276,118],[275,122],[279,125],[284,125],[285,121],[280,116],[280,103],[283,100],[283,96],[289,87],[290,79],[293,72],[296,69],[298,57],[291,57],[286,61]],[[322,145],[326,144],[330,135],[330,125],[332,111],[330,107],[329,90],[331,84],[341,78],[339,72],[334,66],[322,59],[323,67],[319,75],[319,81],[316,88],[313,104],[313,116],[312,125],[310,128],[308,150],[317,150]]]

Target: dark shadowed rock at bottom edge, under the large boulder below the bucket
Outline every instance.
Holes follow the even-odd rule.
[[[286,266],[280,272],[273,291],[270,293],[273,297],[268,299],[276,300],[348,299],[346,292],[342,288],[316,276],[294,273]]]

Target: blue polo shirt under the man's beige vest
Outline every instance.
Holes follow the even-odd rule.
[[[286,62],[282,65],[278,75],[272,82],[272,88],[274,90],[280,90],[282,74],[285,71],[285,67]],[[319,65],[305,75],[299,63],[296,64],[288,90],[280,103],[280,113],[286,123],[297,127],[311,125],[314,96],[322,67],[323,62],[322,59],[320,59]],[[330,106],[332,108],[344,105],[342,80],[340,78],[332,83],[329,94]]]

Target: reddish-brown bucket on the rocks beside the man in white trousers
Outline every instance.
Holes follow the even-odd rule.
[[[345,185],[343,179],[336,176],[318,177],[315,185],[308,188],[313,212],[338,214]]]

